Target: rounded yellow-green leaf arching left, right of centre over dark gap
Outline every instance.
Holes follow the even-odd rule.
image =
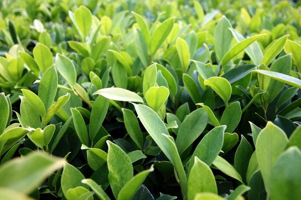
[[[229,81],[223,77],[210,77],[204,81],[205,85],[211,86],[211,88],[225,101],[228,102],[232,87]]]

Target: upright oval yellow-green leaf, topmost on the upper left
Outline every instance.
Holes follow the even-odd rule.
[[[88,36],[92,25],[92,13],[85,6],[80,6],[74,12],[76,25],[84,37]]]

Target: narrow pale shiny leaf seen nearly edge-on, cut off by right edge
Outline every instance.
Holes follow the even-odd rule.
[[[301,80],[298,78],[295,78],[295,77],[292,77],[289,75],[285,75],[283,73],[267,71],[267,70],[260,70],[260,69],[253,70],[251,72],[256,72],[256,73],[260,73],[263,75],[267,75],[275,80],[279,80],[280,82],[284,82],[286,84],[289,84],[291,86],[301,89]]]

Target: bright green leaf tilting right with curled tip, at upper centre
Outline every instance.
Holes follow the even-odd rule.
[[[176,17],[171,17],[163,21],[159,27],[154,31],[152,37],[149,40],[149,53],[153,56],[161,44],[165,41],[174,26],[174,19]]]

